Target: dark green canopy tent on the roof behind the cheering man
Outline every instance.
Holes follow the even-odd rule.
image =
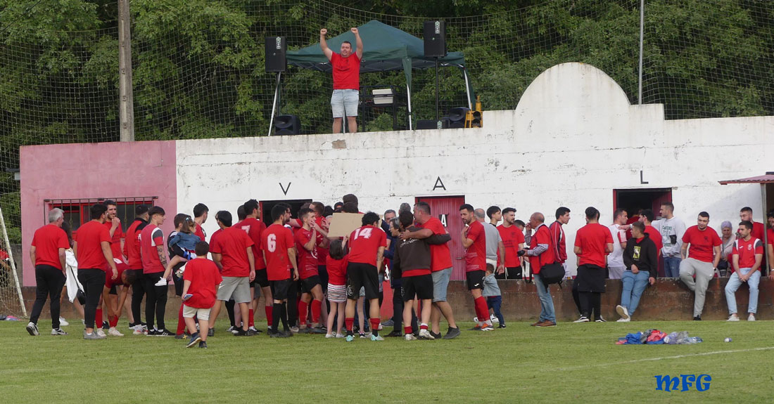
[[[411,126],[411,70],[430,69],[436,66],[436,59],[424,56],[424,42],[422,39],[401,31],[390,25],[376,20],[366,22],[358,27],[358,32],[363,40],[363,59],[360,65],[361,73],[386,72],[391,70],[403,70],[406,73],[406,100],[409,113],[409,127]],[[328,39],[330,49],[336,52],[341,48],[341,42],[349,41],[354,45],[354,34],[344,32],[339,36]],[[287,62],[291,66],[302,69],[318,70],[330,73],[331,66],[320,44],[316,43],[299,50],[291,50],[287,53]],[[462,70],[467,92],[467,106],[473,109],[471,104],[471,87],[465,70],[465,59],[461,52],[450,52],[446,57],[439,59],[442,67],[458,67]],[[279,93],[279,80],[278,80]]]

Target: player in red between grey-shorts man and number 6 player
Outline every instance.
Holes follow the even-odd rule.
[[[234,227],[245,231],[253,243],[252,256],[255,259],[255,280],[250,282],[250,297],[253,300],[249,304],[247,322],[248,328],[257,334],[260,331],[255,329],[255,304],[258,303],[258,299],[255,299],[255,287],[261,288],[261,294],[265,300],[266,325],[268,327],[272,326],[272,289],[269,287],[269,277],[266,276],[266,263],[261,252],[261,235],[266,229],[266,225],[260,220],[261,214],[258,201],[250,199],[242,206],[245,207],[245,219],[235,224]],[[242,314],[242,317],[245,317],[245,315]]]

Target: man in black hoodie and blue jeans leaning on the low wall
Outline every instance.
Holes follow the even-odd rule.
[[[658,248],[648,233],[645,233],[645,225],[642,222],[632,223],[632,238],[626,243],[624,264],[626,270],[621,277],[621,304],[615,307],[615,311],[621,316],[619,322],[632,321],[632,314],[637,310],[642,291],[648,283],[656,283],[658,276]]]

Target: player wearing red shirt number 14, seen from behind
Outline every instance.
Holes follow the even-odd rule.
[[[352,326],[354,310],[360,297],[360,288],[365,287],[365,298],[369,301],[371,341],[384,341],[379,336],[379,271],[384,270],[382,260],[387,247],[387,234],[378,227],[379,216],[367,212],[361,219],[361,226],[348,239],[349,263],[347,265],[347,307],[344,323],[347,325],[346,341],[354,340]]]

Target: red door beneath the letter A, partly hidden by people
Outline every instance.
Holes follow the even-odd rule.
[[[446,231],[451,235],[448,243],[451,252],[451,279],[465,279],[464,248],[460,234],[462,233],[462,219],[460,219],[460,206],[465,203],[464,196],[438,196],[420,197],[416,202],[427,202],[430,205],[430,213],[444,223]]]

